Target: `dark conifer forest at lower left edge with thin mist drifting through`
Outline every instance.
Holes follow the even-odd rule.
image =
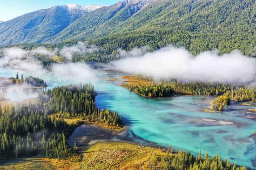
[[[37,154],[65,158],[74,150],[65,142],[74,125],[52,118],[43,105],[5,106],[0,110],[0,157],[24,157]],[[60,137],[59,134],[61,134]],[[47,154],[46,154],[47,153]]]

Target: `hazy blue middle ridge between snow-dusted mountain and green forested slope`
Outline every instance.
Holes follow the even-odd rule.
[[[76,20],[58,35],[56,41],[101,37],[115,31],[113,28],[128,20],[148,4],[157,0],[122,0],[112,6],[99,8]]]

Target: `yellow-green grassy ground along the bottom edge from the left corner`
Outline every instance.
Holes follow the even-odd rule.
[[[128,143],[99,143],[67,160],[18,158],[0,162],[0,170],[141,170],[160,149]]]

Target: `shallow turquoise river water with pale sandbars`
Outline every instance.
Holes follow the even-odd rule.
[[[14,74],[13,74],[14,73]],[[14,71],[0,70],[1,77],[15,75]],[[70,83],[45,74],[42,78],[48,88]],[[219,154],[232,162],[252,167],[256,158],[256,144],[249,136],[256,130],[255,121],[245,117],[243,108],[230,105],[223,113],[202,112],[212,98],[178,96],[173,98],[142,98],[119,86],[120,73],[97,72],[99,78],[119,78],[116,82],[98,79],[93,84],[98,93],[96,104],[118,111],[129,125],[129,131],[145,140],[162,146],[173,145],[179,149],[198,153],[208,151],[210,156]],[[202,120],[214,119],[216,122]],[[219,121],[233,122],[223,125]],[[82,137],[82,134],[81,134]]]

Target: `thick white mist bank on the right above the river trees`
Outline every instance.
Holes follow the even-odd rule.
[[[183,48],[167,46],[144,55],[133,54],[112,63],[118,70],[155,79],[243,84],[256,82],[256,59],[244,56],[238,50],[223,55],[211,51],[193,56]]]

